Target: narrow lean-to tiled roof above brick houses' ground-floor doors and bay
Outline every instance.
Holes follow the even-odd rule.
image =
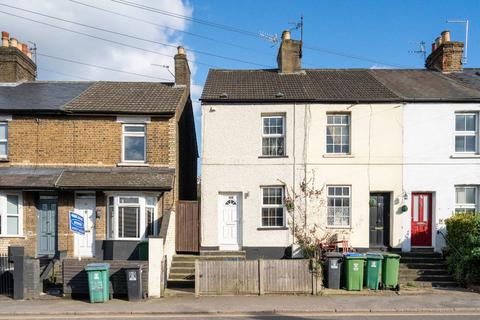
[[[173,180],[167,168],[0,168],[0,189],[166,191]]]

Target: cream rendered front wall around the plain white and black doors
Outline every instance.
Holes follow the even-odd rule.
[[[401,245],[402,105],[203,105],[202,108],[202,246],[219,245],[220,192],[242,193],[243,246],[291,245],[289,230],[258,230],[260,187],[280,185],[280,181],[297,186],[305,166],[308,175],[315,172],[317,188],[327,184],[352,186],[352,225],[342,231],[355,247],[368,247],[369,192],[391,192],[391,244]],[[327,112],[351,113],[351,156],[325,155]],[[285,158],[259,157],[261,116],[271,113],[286,115]],[[305,153],[304,141],[307,141]],[[325,217],[322,213],[319,216]]]

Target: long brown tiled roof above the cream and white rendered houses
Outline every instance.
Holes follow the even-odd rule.
[[[210,70],[203,102],[414,102],[480,101],[480,80],[425,69]],[[463,79],[467,82],[466,79]],[[475,87],[476,84],[476,87]]]

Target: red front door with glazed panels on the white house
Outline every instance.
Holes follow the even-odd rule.
[[[412,194],[412,246],[432,245],[432,194]]]

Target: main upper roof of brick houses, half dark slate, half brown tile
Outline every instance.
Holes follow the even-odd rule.
[[[0,112],[174,114],[185,92],[159,82],[30,81],[0,85]]]

